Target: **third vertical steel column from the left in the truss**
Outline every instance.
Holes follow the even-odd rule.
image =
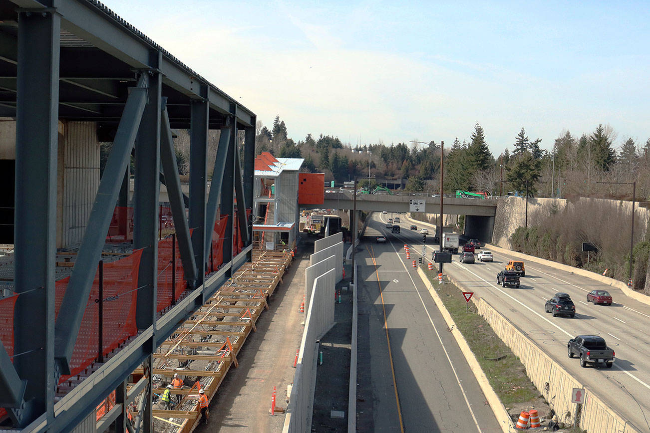
[[[201,88],[201,92],[203,92]],[[196,287],[205,278],[205,247],[203,243],[205,227],[205,190],[207,179],[207,130],[209,104],[205,100],[190,104],[190,228],[194,263],[196,263]]]

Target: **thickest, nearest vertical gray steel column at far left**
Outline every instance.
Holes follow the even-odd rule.
[[[18,23],[14,367],[32,407],[14,421],[25,426],[54,417],[60,16],[19,11]]]

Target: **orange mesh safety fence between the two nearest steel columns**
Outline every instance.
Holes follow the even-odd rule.
[[[103,355],[109,354],[120,343],[138,332],[135,325],[135,308],[141,256],[142,249],[139,249],[133,251],[130,256],[103,266]],[[70,277],[66,277],[56,283],[55,315],[59,315],[69,281]],[[98,355],[98,297],[99,273],[96,273],[70,360],[70,376],[83,371]],[[70,376],[61,377],[59,383]]]

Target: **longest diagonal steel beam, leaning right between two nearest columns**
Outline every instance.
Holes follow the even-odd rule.
[[[77,261],[61,303],[55,327],[55,356],[60,367],[60,374],[70,374],[69,362],[86,308],[85,300],[88,299],[92,289],[97,264],[109,230],[110,219],[120,193],[124,173],[130,163],[131,149],[142,112],[144,112],[147,103],[147,82],[146,75],[142,75],[138,86],[132,88],[129,93],[109,159],[106,162],[104,175],[99,182],[95,203],[90,211],[86,232],[79,247],[79,254],[77,254]],[[53,258],[54,255],[53,252]]]

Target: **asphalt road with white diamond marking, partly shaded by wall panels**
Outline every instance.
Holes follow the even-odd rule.
[[[383,230],[378,221],[370,221],[369,227],[369,234]],[[400,253],[404,242],[391,240],[395,238],[385,244],[367,240],[357,253],[363,265],[359,334],[369,339],[372,382],[372,425],[358,427],[376,432],[499,432],[443,317]]]

